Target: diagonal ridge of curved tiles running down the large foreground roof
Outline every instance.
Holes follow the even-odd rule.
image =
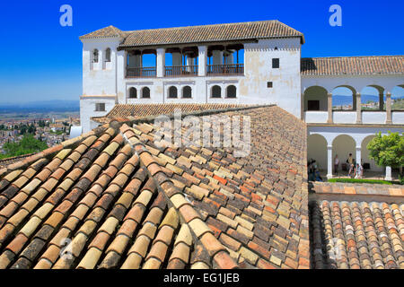
[[[238,268],[237,263],[230,257],[229,251],[215,238],[214,231],[202,220],[198,211],[189,203],[180,188],[174,186],[171,179],[162,170],[160,163],[154,160],[147,146],[136,136],[135,129],[123,124],[119,130],[125,141],[131,145],[139,156],[140,162],[145,166],[150,178],[154,178],[156,186],[162,190],[167,203],[173,206],[180,216],[180,222],[189,226],[195,241],[206,249],[210,256],[210,264],[214,265],[215,263],[221,269]]]

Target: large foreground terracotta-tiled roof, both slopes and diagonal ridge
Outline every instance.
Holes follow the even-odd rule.
[[[0,170],[0,267],[307,268],[303,122],[225,114],[250,116],[250,156],[111,122]]]

